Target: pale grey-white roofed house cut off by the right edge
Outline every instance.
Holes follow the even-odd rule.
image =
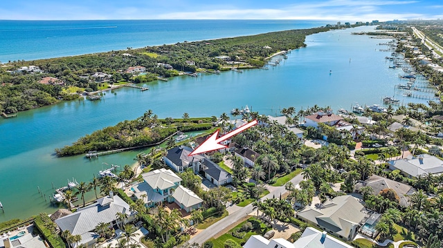
[[[400,170],[402,174],[408,177],[419,177],[420,175],[443,173],[443,160],[433,155],[422,154],[408,158],[392,160],[389,162],[389,169]]]

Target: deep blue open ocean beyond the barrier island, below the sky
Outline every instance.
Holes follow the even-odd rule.
[[[327,21],[300,20],[0,21],[0,61],[82,55],[325,24]]]

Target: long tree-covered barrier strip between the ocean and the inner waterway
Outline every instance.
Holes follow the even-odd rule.
[[[145,83],[157,77],[173,77],[179,71],[195,72],[231,67],[238,62],[246,67],[263,66],[266,57],[281,50],[305,46],[306,35],[325,32],[330,28],[311,28],[269,32],[261,35],[183,42],[163,46],[147,46],[125,51],[111,51],[72,57],[10,61],[0,68],[0,113],[16,113],[30,108],[55,104],[60,99],[79,97],[84,90],[91,92],[108,88],[109,84]],[[129,55],[129,56],[128,56]],[[227,56],[226,59],[217,58]],[[170,64],[173,69],[157,63]],[[19,71],[21,66],[39,66],[44,73]],[[144,75],[127,73],[130,66],[144,66]],[[103,72],[111,78],[95,82],[93,73]],[[40,84],[42,77],[56,77],[63,85]],[[77,89],[72,92],[71,89]]]

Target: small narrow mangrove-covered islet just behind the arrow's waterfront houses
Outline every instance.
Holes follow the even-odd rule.
[[[136,120],[119,122],[116,126],[109,126],[95,131],[91,135],[81,137],[71,146],[55,149],[58,156],[75,155],[87,153],[87,151],[106,151],[112,149],[123,149],[129,147],[156,145],[171,137],[178,131],[197,131],[211,128],[211,118],[188,119],[187,122],[167,123],[159,120],[152,111],[138,117]]]

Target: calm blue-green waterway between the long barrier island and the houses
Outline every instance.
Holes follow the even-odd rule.
[[[280,27],[280,22],[276,23]],[[55,211],[57,207],[47,201],[53,193],[52,185],[61,187],[73,177],[78,182],[89,181],[104,169],[103,162],[133,164],[136,154],[145,150],[96,160],[87,160],[84,155],[55,158],[53,153],[55,148],[97,129],[135,119],[147,109],[159,117],[180,118],[185,112],[190,117],[219,116],[246,104],[268,115],[278,114],[280,108],[294,106],[298,110],[314,104],[331,106],[334,111],[350,110],[355,102],[381,104],[383,96],[392,95],[405,103],[425,103],[426,100],[403,97],[395,91],[394,86],[405,81],[398,77],[400,70],[388,68],[391,64],[384,57],[390,52],[381,52],[379,49],[386,47],[378,46],[389,40],[350,35],[372,28],[310,35],[306,48],[291,51],[288,59],[269,70],[175,77],[168,82],[147,84],[150,90],[143,92],[120,88],[107,91],[101,101],[60,102],[20,112],[16,118],[0,119],[0,201],[5,207],[0,222]],[[43,192],[39,193],[37,187]]]

